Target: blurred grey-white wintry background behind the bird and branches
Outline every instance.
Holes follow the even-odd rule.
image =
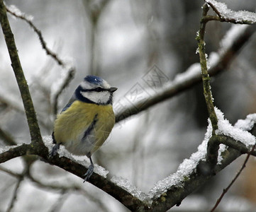
[[[204,1],[126,1],[126,0],[6,0],[23,13],[33,16],[48,47],[76,68],[74,80],[60,96],[59,110],[87,74],[104,78],[118,88],[114,110],[129,107],[122,101],[134,86],[147,89],[145,74],[157,67],[172,81],[177,73],[199,62],[196,31],[199,30]],[[256,1],[221,0],[233,10],[255,11]],[[52,95],[67,73],[45,54],[38,36],[23,20],[9,16],[43,136],[52,133],[55,114]],[[229,23],[208,23],[206,52],[217,52],[220,41],[230,29]],[[17,143],[29,143],[26,117],[9,54],[0,33],[0,128]],[[212,78],[216,106],[234,124],[256,112],[256,37],[247,42],[229,69]],[[162,86],[162,85],[159,85]],[[150,98],[150,97],[149,97]],[[155,182],[177,170],[185,158],[197,150],[206,133],[208,114],[201,84],[162,102],[138,115],[118,122],[108,142],[94,153],[94,163],[109,170],[109,176],[128,179],[143,192]],[[6,140],[0,138],[0,145]],[[207,211],[224,187],[233,179],[244,156],[229,165],[199,191],[170,211]],[[22,173],[26,163],[21,158],[1,167]],[[30,175],[42,182],[21,181],[0,171],[0,211],[128,211],[118,201],[82,179],[43,163],[30,166]],[[219,211],[253,211],[256,207],[255,159],[226,194]],[[82,191],[52,189],[51,184],[77,184]],[[16,200],[11,205],[11,199]],[[86,208],[86,209],[85,209]]]

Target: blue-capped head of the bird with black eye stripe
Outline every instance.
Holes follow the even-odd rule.
[[[111,87],[103,78],[88,75],[74,92],[75,98],[82,102],[97,105],[112,105],[113,92],[117,88]]]

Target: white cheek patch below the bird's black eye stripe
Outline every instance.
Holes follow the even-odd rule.
[[[81,94],[84,98],[91,100],[92,102],[99,103],[99,104],[106,104],[109,98],[111,97],[111,93],[106,91],[96,92],[96,91],[81,91]]]

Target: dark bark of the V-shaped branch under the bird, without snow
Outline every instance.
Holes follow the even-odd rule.
[[[256,135],[255,129],[256,128],[254,127],[251,131],[254,135]],[[220,140],[222,143],[225,143],[227,145],[228,143],[233,143],[233,140],[228,138],[227,136],[220,137],[223,138],[223,140]],[[227,139],[230,141],[226,141]],[[238,141],[236,141],[236,143],[238,143],[239,145]],[[235,148],[235,146],[233,147]],[[191,172],[191,174],[187,177],[184,177],[184,179],[181,179],[182,182],[173,184],[165,192],[162,192],[160,196],[154,196],[151,199],[152,204],[149,204],[146,199],[143,201],[141,199],[138,199],[137,196],[133,196],[133,194],[127,192],[126,189],[123,189],[117,184],[113,183],[108,177],[105,178],[101,175],[97,175],[96,173],[94,173],[91,176],[89,182],[116,198],[131,211],[166,211],[175,204],[179,204],[182,199],[191,194],[191,192],[194,192],[194,190],[204,184],[204,182],[220,172],[233,160],[238,158],[241,153],[247,152],[245,151],[246,148],[244,149],[244,146],[242,146],[242,148],[239,147],[238,149],[239,151],[236,151],[233,148],[228,148],[228,150],[222,154],[223,160],[221,161],[221,165],[216,165],[214,167],[214,172],[205,172],[204,170],[206,169],[206,164],[204,160],[199,161],[198,165]],[[242,150],[242,152],[240,150]],[[45,161],[48,161],[52,165],[57,165],[58,167],[61,167],[62,169],[67,170],[68,172],[71,172],[72,174],[77,175],[82,179],[84,178],[84,173],[87,172],[86,167],[70,160],[69,158],[59,158],[58,155],[56,155],[54,158],[49,160],[48,152],[35,151],[34,147],[28,144],[9,148],[9,150],[5,151],[4,153],[0,153],[0,163],[26,154],[38,154],[42,158],[44,158]],[[253,151],[252,154],[256,155],[255,151]],[[148,200],[150,201],[150,199]]]

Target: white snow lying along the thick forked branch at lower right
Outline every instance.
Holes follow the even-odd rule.
[[[215,107],[216,116],[218,118],[218,130],[216,134],[230,136],[236,141],[243,142],[247,147],[249,145],[253,145],[255,143],[255,136],[252,136],[247,131],[243,129],[250,128],[256,122],[256,114],[250,114],[247,116],[244,122],[239,121],[238,124],[232,126],[227,119],[224,119],[224,115],[221,110],[218,110]],[[178,167],[177,172],[165,179],[157,182],[148,194],[149,198],[160,197],[161,194],[167,192],[167,190],[172,187],[183,187],[184,179],[188,178],[191,173],[196,169],[196,166],[199,164],[199,161],[206,160],[207,153],[207,145],[208,141],[212,135],[212,125],[210,119],[208,119],[208,127],[204,137],[204,141],[199,145],[198,151],[193,153],[189,159],[185,159]],[[223,160],[221,153],[226,151],[227,146],[221,144],[218,149],[218,162],[217,164],[221,164]]]

